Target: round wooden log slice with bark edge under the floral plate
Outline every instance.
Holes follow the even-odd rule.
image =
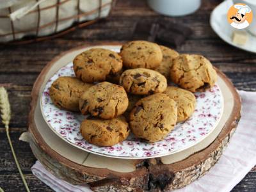
[[[113,46],[120,47],[108,44],[104,48]],[[31,92],[29,134],[23,140],[29,141],[47,170],[72,184],[89,184],[94,191],[170,191],[202,177],[218,161],[236,129],[241,110],[236,88],[218,69],[218,84],[224,96],[223,116],[207,138],[186,150],[154,159],[115,159],[90,154],[56,136],[40,112],[40,94],[46,81],[84,49],[88,47],[54,58],[42,70]]]

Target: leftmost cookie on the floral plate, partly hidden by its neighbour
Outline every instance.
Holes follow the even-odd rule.
[[[93,84],[84,83],[76,77],[58,77],[51,84],[49,94],[52,102],[58,108],[79,111],[79,98],[91,86]]]

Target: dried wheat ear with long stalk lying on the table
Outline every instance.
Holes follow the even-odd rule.
[[[11,114],[10,102],[9,102],[9,99],[8,99],[8,93],[6,92],[6,89],[3,86],[0,87],[0,112],[1,112],[2,122],[5,126],[5,129],[6,129],[6,135],[7,135],[8,141],[9,141],[9,145],[10,145],[10,148],[12,150],[13,158],[14,158],[15,163],[17,165],[17,168],[19,170],[22,182],[24,183],[24,186],[25,186],[26,190],[29,191],[28,184],[27,184],[26,179],[25,179],[25,177],[22,173],[22,170],[20,168],[19,161],[16,157],[15,151],[14,151],[13,146],[12,146],[12,140],[10,138],[9,124],[10,124],[12,114]]]

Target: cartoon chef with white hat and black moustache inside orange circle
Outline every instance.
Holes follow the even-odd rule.
[[[235,15],[232,15],[230,19],[233,21],[230,25],[236,29],[244,29],[247,28],[250,24],[246,20],[246,13],[250,13],[251,9],[247,5],[235,4],[234,8],[238,11]]]

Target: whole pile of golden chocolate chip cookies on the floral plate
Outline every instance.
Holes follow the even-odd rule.
[[[119,54],[90,49],[73,63],[76,77],[59,77],[50,96],[58,108],[88,115],[81,134],[99,146],[124,141],[130,130],[141,141],[163,140],[192,115],[193,92],[211,88],[217,77],[204,56],[146,41],[128,42]]]

